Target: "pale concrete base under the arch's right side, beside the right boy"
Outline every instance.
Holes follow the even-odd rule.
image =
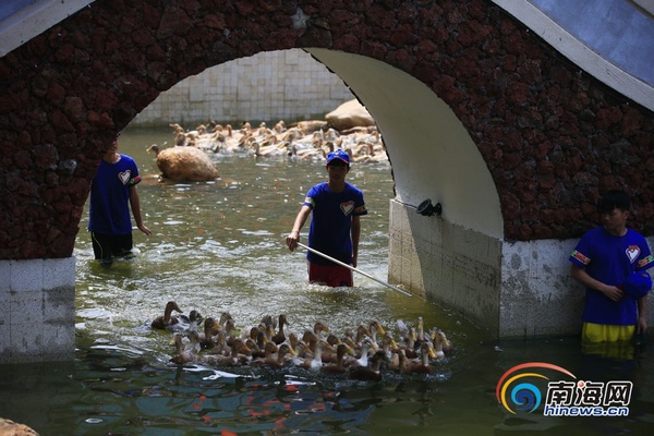
[[[577,240],[502,241],[397,201],[389,229],[389,282],[458,310],[497,338],[581,332],[584,291],[568,262]],[[653,298],[647,315],[654,325]]]

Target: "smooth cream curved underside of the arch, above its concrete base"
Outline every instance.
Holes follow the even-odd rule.
[[[491,172],[452,110],[425,84],[360,55],[312,48],[366,106],[388,148],[397,201],[443,204],[450,222],[495,238],[504,234]]]

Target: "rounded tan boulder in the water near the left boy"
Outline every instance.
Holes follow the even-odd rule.
[[[153,145],[148,149],[156,153],[157,167],[166,179],[199,182],[220,177],[211,159],[195,147],[174,146],[159,150]]]

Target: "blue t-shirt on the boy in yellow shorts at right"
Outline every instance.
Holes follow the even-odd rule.
[[[608,233],[604,227],[589,230],[570,255],[570,262],[596,280],[619,287],[631,274],[654,265],[647,241],[627,229],[623,237]],[[585,291],[583,320],[586,323],[630,326],[637,323],[637,302],[625,296],[613,301],[595,289]]]

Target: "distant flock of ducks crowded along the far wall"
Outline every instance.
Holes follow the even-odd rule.
[[[354,126],[337,131],[327,121],[299,121],[292,126],[283,120],[272,129],[262,122],[253,128],[244,122],[240,129],[231,124],[201,124],[185,131],[171,123],[175,146],[192,146],[213,153],[249,153],[256,157],[294,157],[324,160],[329,152],[341,148],[351,162],[388,161],[384,142],[376,125]]]

